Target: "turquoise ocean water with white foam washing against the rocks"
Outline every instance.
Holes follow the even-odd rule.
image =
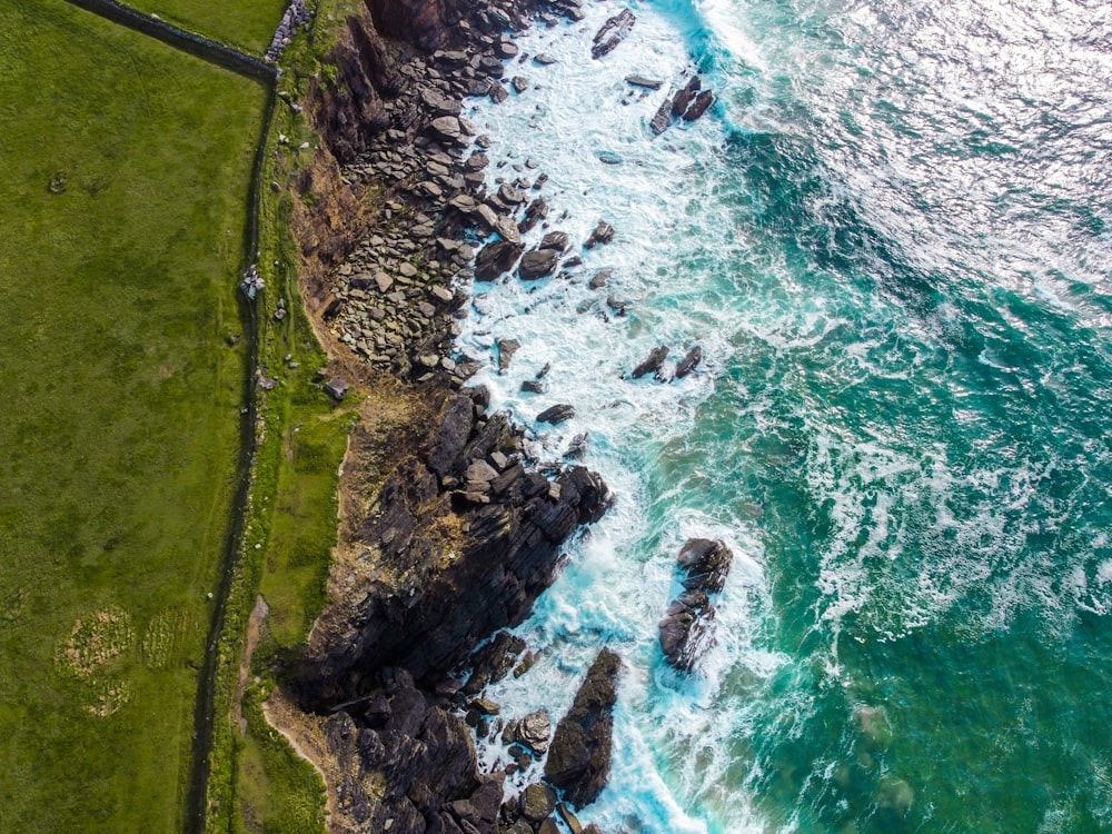
[[[617,497],[492,696],[555,717],[623,655],[583,814],[612,832],[1112,831],[1112,6],[646,0],[593,61],[620,8],[522,38],[557,62],[468,113],[492,185],[544,171],[549,228],[617,228],[474,287],[478,381],[540,458],[589,433]],[[654,138],[696,67],[715,107]],[[623,378],[695,344],[695,377]],[[656,624],[689,536],[735,563],[682,677]]]

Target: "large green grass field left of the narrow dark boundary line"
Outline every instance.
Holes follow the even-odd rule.
[[[265,92],[62,0],[0,79],[0,831],[180,831]]]

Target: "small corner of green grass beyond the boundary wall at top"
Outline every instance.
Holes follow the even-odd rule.
[[[121,0],[206,38],[261,56],[289,0]]]

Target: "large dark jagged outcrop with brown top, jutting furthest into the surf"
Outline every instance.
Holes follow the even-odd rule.
[[[365,677],[390,666],[434,686],[528,614],[560,545],[607,507],[606,485],[587,469],[554,481],[528,470],[503,415],[476,417],[464,394],[430,397],[427,439],[397,463],[360,524],[374,569],[325,610],[301,662],[298,688],[314,709],[361,697]]]

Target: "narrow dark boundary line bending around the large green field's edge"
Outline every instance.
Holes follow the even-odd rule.
[[[259,193],[262,163],[270,121],[277,98],[278,69],[255,56],[186,31],[163,20],[136,11],[116,0],[66,0],[72,6],[102,17],[113,23],[127,27],[140,34],[153,38],[167,46],[199,58],[221,69],[235,72],[259,83],[266,91],[261,131],[255,148],[255,160],[247,197],[247,224],[244,232],[244,257],[240,274],[255,264],[259,249]],[[237,276],[238,278],[238,276]],[[235,288],[238,280],[232,285]],[[235,291],[235,289],[234,289]],[[219,583],[214,590],[216,605],[209,620],[206,637],[205,661],[197,676],[197,699],[193,707],[192,752],[189,764],[189,781],[182,814],[185,834],[203,834],[206,796],[209,777],[209,753],[212,749],[215,722],[214,697],[216,694],[217,651],[216,646],[224,629],[228,608],[228,594],[244,535],[245,514],[250,494],[251,463],[255,455],[256,408],[254,396],[255,368],[258,365],[258,318],[255,305],[244,294],[236,292],[239,318],[244,328],[247,356],[244,361],[242,397],[246,408],[240,417],[239,460],[237,461],[236,493],[231,505],[231,516],[222,544],[219,566]]]

